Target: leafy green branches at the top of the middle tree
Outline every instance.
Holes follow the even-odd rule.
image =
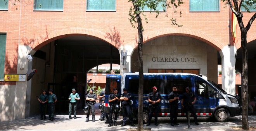
[[[146,15],[144,14],[144,7],[148,7],[150,9],[150,13],[155,12],[156,18],[159,16],[161,12],[159,12],[159,6],[163,7],[164,12],[166,12],[165,8],[173,8],[173,12],[177,13],[176,8],[179,7],[182,3],[184,3],[182,0],[128,0],[128,2],[133,3],[133,7],[130,7],[129,11],[129,20],[131,23],[131,26],[135,28],[135,25],[137,22],[137,15],[142,14],[145,17],[145,22],[147,22]],[[168,17],[168,13],[165,15]],[[182,12],[180,12],[180,17],[182,16]],[[176,23],[176,18],[171,18],[172,25],[176,25],[178,27],[182,27],[182,25],[179,25]],[[144,31],[142,27],[142,31]]]

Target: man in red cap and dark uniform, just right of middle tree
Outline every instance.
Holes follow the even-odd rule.
[[[148,101],[149,103],[149,118],[147,119],[147,126],[150,125],[150,121],[153,116],[153,112],[155,113],[155,125],[158,126],[157,123],[157,116],[158,116],[158,109],[159,109],[159,102],[161,101],[160,93],[157,92],[157,87],[154,86],[153,92],[149,93]]]

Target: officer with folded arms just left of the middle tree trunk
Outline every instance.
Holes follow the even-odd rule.
[[[133,119],[131,117],[131,93],[128,93],[127,89],[123,89],[123,94],[121,94],[121,106],[123,109],[123,124],[121,126],[126,126],[126,117],[128,116],[131,126],[135,126],[133,124]]]

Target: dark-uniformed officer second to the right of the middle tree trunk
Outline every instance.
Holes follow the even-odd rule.
[[[178,104],[179,104],[179,95],[177,93],[177,88],[174,86],[173,91],[169,94],[168,100],[170,104],[170,116],[171,116],[171,126],[179,125],[177,122],[178,116]]]

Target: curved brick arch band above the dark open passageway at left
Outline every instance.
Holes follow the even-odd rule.
[[[88,30],[83,28],[70,28],[70,29],[57,30],[55,32],[47,33],[44,36],[37,37],[29,45],[33,50],[38,50],[44,45],[48,44],[49,42],[52,42],[54,40],[57,40],[63,37],[69,37],[69,36],[75,36],[75,35],[87,35],[91,37],[97,37],[101,40],[108,42],[109,44],[113,45],[117,49],[121,46],[120,44],[121,42],[112,40],[112,37],[107,36],[107,32],[104,33],[100,31]]]

